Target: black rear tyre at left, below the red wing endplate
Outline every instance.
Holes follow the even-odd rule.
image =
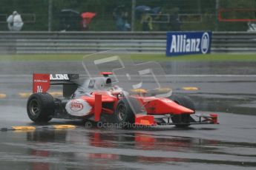
[[[35,123],[47,123],[54,115],[53,96],[48,93],[33,93],[27,100],[27,115]]]

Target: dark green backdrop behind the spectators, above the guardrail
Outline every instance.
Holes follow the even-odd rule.
[[[247,22],[219,22],[217,10],[222,8],[254,9],[255,0],[1,0],[0,1],[0,31],[7,30],[6,18],[14,10],[22,14],[23,31],[45,31],[48,28],[48,9],[52,6],[50,30],[59,31],[59,13],[62,9],[73,9],[81,12],[95,12],[96,17],[90,24],[91,31],[116,30],[113,17],[114,9],[125,5],[128,12],[128,23],[131,24],[132,3],[135,6],[162,7],[162,13],[169,14],[170,22],[154,23],[152,31],[177,30],[218,30],[218,31],[246,31]],[[255,10],[256,12],[256,10]],[[226,13],[227,18],[255,18],[255,12]],[[183,21],[177,23],[177,14],[184,14]],[[191,16],[191,14],[197,14]],[[201,16],[202,20],[197,17]],[[135,17],[134,31],[141,31],[140,17]]]

